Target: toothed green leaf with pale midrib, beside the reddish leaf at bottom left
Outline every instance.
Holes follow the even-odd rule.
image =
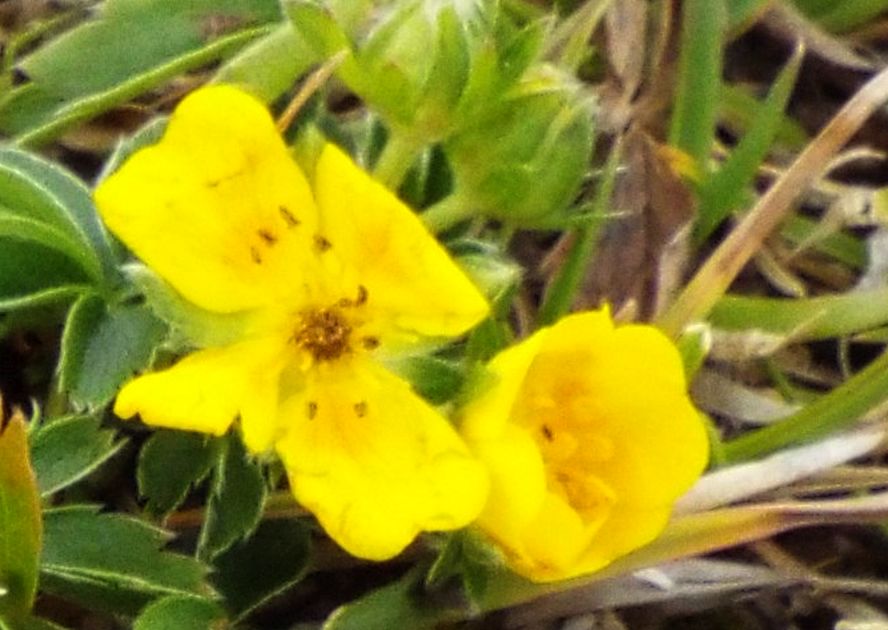
[[[167,532],[98,509],[74,505],[44,512],[43,590],[88,607],[127,613],[158,596],[206,591],[202,564],[161,550]]]

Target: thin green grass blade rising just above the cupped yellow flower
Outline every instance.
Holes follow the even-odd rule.
[[[598,244],[598,235],[603,224],[601,217],[604,216],[613,195],[617,166],[620,163],[620,155],[622,154],[620,147],[620,144],[615,145],[611,150],[610,156],[608,156],[601,186],[598,188],[592,206],[591,220],[574,228],[572,231],[573,246],[567,254],[567,260],[565,260],[561,269],[558,270],[558,275],[549,285],[549,289],[543,298],[543,304],[537,315],[538,326],[554,324],[559,318],[567,314],[573,305],[576,294],[586,275],[589,260],[592,258],[595,246]]]

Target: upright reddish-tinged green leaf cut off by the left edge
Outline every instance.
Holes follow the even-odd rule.
[[[25,421],[14,414],[0,434],[0,618],[24,616],[34,603],[41,534]]]

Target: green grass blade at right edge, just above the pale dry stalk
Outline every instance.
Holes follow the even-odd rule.
[[[830,393],[777,424],[752,431],[724,445],[728,462],[759,457],[857,422],[888,398],[888,351]]]

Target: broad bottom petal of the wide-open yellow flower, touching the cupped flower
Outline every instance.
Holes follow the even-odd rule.
[[[450,424],[369,361],[321,363],[281,409],[296,499],[352,555],[383,560],[420,531],[472,521],[487,477]]]

